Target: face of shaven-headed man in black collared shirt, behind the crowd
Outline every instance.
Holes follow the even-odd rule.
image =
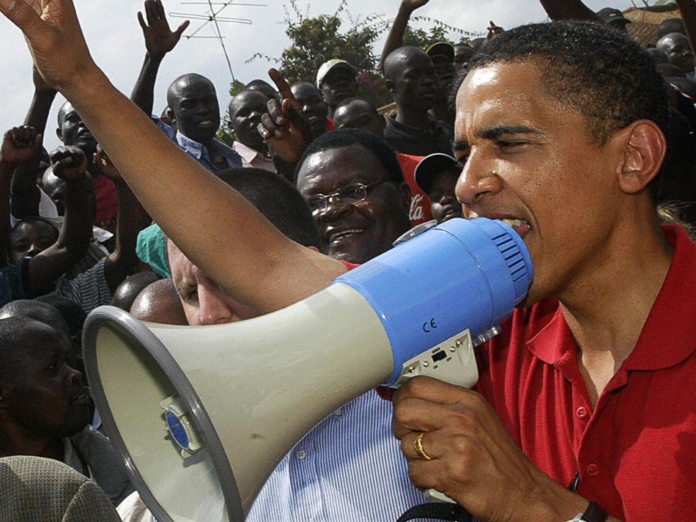
[[[435,66],[430,57],[425,53],[411,53],[401,61],[392,89],[401,105],[432,109],[436,81]]]

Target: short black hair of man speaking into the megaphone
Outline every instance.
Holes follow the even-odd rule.
[[[469,70],[494,63],[535,62],[552,98],[579,112],[596,142],[648,119],[667,134],[667,91],[655,65],[626,34],[596,22],[523,25],[490,40]]]

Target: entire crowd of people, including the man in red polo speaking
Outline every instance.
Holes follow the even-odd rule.
[[[182,71],[153,115],[188,25],[172,30],[161,0],[138,13],[130,100],[93,62],[72,0],[0,0],[34,57],[26,120],[0,149],[1,520],[154,520],[83,375],[96,307],[243,321],[415,225],[462,217],[506,222],[534,265],[526,300],[478,348],[476,387],[417,377],[350,401],[279,462],[246,520],[696,513],[695,1],[678,0],[650,48],[621,11],[579,0],[541,0],[550,22],[491,22],[467,44],[403,46],[428,1],[401,0],[384,45],[392,114],[359,98],[337,56],[292,85],[275,69],[249,81],[228,146],[205,76]],[[47,152],[57,92],[63,145]]]

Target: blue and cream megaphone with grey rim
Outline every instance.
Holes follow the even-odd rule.
[[[414,375],[471,386],[473,347],[525,297],[528,250],[479,218],[421,226],[285,309],[219,326],[141,323],[114,307],[83,329],[107,433],[160,522],[243,521],[314,425]]]

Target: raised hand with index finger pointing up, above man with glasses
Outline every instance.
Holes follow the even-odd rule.
[[[297,163],[312,141],[312,129],[283,75],[269,69],[268,76],[276,84],[282,102],[269,100],[268,112],[261,116],[258,131],[276,156],[286,163]]]

